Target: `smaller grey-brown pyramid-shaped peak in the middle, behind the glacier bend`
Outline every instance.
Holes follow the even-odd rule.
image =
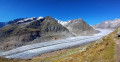
[[[98,33],[97,30],[93,29],[81,18],[71,20],[66,27],[75,35],[93,35]]]

